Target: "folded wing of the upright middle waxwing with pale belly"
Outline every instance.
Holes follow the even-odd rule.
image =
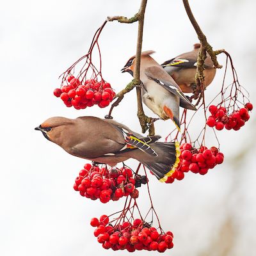
[[[157,84],[160,84],[168,90],[168,92],[178,96],[180,98],[180,106],[186,109],[196,110],[195,106],[191,104],[188,98],[182,93],[179,85],[175,83],[173,78],[161,67],[153,66],[145,70],[145,74],[149,79],[154,80]]]

